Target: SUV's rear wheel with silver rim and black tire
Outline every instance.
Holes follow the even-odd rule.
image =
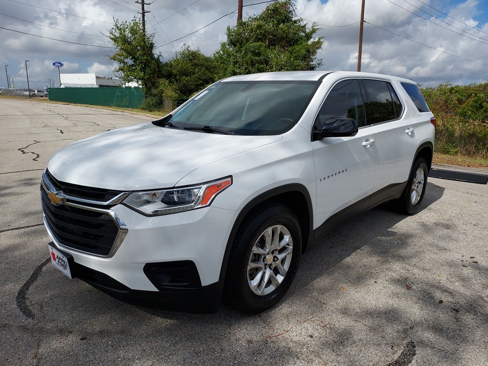
[[[401,198],[390,201],[393,210],[404,215],[416,213],[426,193],[427,176],[427,162],[424,158],[418,158],[410,171],[406,192]]]

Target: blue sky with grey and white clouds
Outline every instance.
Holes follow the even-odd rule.
[[[244,0],[244,19],[266,6],[245,5],[261,1]],[[156,33],[155,43],[165,60],[185,43],[211,55],[225,41],[227,26],[235,25],[237,3],[152,0],[146,7],[150,11],[146,27]],[[298,17],[321,24],[316,34],[324,39],[318,54],[321,69],[355,71],[361,0],[294,3]],[[117,65],[108,60],[113,45],[103,34],[113,18],[131,20],[140,11],[134,0],[0,0],[0,4],[1,65],[9,65],[7,73],[15,87],[23,88],[25,60],[31,88],[48,86],[49,79],[58,82],[54,61],[64,63],[61,73],[114,76]],[[217,20],[232,11],[236,12]],[[423,86],[488,79],[488,0],[366,0],[365,21],[362,71],[409,78]],[[5,71],[0,86],[7,87]]]

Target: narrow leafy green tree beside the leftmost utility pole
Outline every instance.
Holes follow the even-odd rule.
[[[115,73],[124,82],[141,82],[146,98],[150,96],[159,86],[163,68],[161,53],[155,53],[154,33],[144,34],[141,20],[134,17],[122,22],[114,19],[114,26],[108,30],[107,37],[117,47],[109,57],[119,64]]]

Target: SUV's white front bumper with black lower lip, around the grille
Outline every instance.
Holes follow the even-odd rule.
[[[60,245],[44,218],[53,243],[72,258],[73,277],[134,305],[199,313],[218,309],[224,285],[219,279],[224,251],[239,211],[208,206],[146,217],[122,204],[111,209],[128,230],[110,258]],[[200,286],[159,286],[158,290],[144,273],[144,265],[173,261],[192,261],[198,270]]]

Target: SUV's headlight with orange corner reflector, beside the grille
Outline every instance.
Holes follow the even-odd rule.
[[[191,187],[133,192],[123,203],[144,215],[166,215],[208,206],[232,184],[232,177]]]

